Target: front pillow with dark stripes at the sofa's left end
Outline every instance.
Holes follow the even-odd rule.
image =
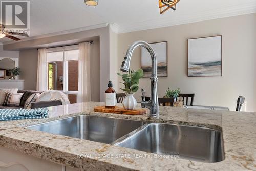
[[[20,99],[22,98],[23,93],[6,93],[5,101],[3,106],[15,106],[18,107]]]

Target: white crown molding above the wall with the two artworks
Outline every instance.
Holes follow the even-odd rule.
[[[175,12],[175,11],[174,11]],[[256,3],[251,2],[245,4],[242,8],[238,6],[225,7],[221,9],[215,9],[211,11],[201,11],[193,14],[186,14],[178,16],[176,18],[169,19],[169,17],[162,17],[161,19],[155,18],[139,23],[126,23],[119,26],[118,33],[128,33],[134,31],[155,29],[161,27],[175,26],[188,23],[202,22],[205,20],[219,19],[237,15],[244,15],[250,13],[256,13]]]

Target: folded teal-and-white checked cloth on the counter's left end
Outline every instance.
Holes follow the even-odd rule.
[[[19,119],[40,119],[46,118],[48,108],[38,109],[0,109],[0,121]]]

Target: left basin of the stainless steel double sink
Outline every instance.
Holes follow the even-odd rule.
[[[34,126],[29,129],[111,144],[145,124],[142,121],[80,115]]]

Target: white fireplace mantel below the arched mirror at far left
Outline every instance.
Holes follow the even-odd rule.
[[[23,90],[24,79],[0,79],[0,89],[18,88]]]

